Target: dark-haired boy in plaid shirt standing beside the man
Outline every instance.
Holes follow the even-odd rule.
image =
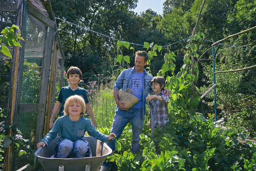
[[[146,101],[150,101],[150,107],[156,103],[156,108],[154,110],[154,126],[163,126],[169,122],[168,117],[168,101],[169,97],[166,93],[163,92],[165,87],[165,79],[162,76],[155,76],[151,81],[151,88],[154,91],[153,95],[147,96]],[[152,99],[156,98],[157,100],[151,101]],[[151,115],[150,115],[151,116]],[[149,123],[147,124],[148,128],[151,128],[151,118]]]

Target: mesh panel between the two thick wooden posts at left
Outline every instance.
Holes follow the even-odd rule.
[[[40,91],[41,68],[45,34],[34,22],[35,18],[27,16],[26,40],[24,52],[23,79],[20,103],[38,103]],[[18,129],[23,138],[30,140],[34,148],[37,112],[20,112]],[[27,165],[29,156],[18,158],[15,170]]]

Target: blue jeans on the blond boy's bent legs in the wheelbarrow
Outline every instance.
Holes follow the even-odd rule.
[[[76,158],[85,157],[88,148],[87,142],[83,139],[76,142],[64,139],[58,145],[57,158],[67,158],[70,154],[74,154]]]

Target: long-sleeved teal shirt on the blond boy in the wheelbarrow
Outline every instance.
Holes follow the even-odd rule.
[[[46,146],[57,137],[58,131],[61,131],[60,138],[67,138],[72,142],[80,140],[84,137],[85,131],[89,136],[94,137],[100,141],[109,141],[109,136],[97,131],[93,125],[91,125],[90,119],[81,117],[77,121],[70,120],[69,116],[64,115],[59,117],[53,125],[53,128],[46,136],[41,140],[45,142]]]

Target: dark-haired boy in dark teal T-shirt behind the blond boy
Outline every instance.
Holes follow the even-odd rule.
[[[68,82],[70,83],[70,85],[66,86],[66,87],[62,87],[60,89],[59,96],[57,98],[57,103],[55,104],[55,106],[53,108],[53,113],[52,113],[52,116],[50,119],[49,127],[50,128],[53,127],[53,120],[58,112],[59,112],[59,116],[64,115],[63,112],[64,112],[65,100],[68,97],[73,96],[73,95],[79,95],[84,98],[87,113],[89,114],[89,116],[91,117],[91,120],[92,120],[91,124],[94,127],[96,127],[95,117],[93,114],[93,110],[91,109],[91,106],[89,104],[86,90],[84,88],[78,86],[78,83],[80,83],[82,81],[82,71],[77,67],[73,67],[73,66],[70,67],[67,71],[67,79],[68,79]]]

